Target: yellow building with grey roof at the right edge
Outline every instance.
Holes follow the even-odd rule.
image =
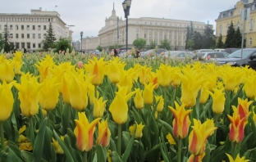
[[[216,21],[216,36],[222,34],[222,42],[225,43],[228,26],[233,23],[235,30],[239,27],[243,32],[243,21],[241,20],[241,11],[250,9],[249,19],[245,20],[245,47],[256,47],[256,1],[240,0],[236,2],[235,7],[220,12]]]

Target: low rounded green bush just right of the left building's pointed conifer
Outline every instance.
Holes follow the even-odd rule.
[[[54,52],[65,51],[68,48],[69,52],[72,51],[71,47],[71,39],[70,38],[60,38],[57,42],[55,42],[52,47],[54,47]]]

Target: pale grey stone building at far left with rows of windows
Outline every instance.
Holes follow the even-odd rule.
[[[7,25],[11,43],[16,49],[26,48],[29,52],[43,47],[49,23],[57,40],[61,37],[72,38],[72,31],[57,11],[42,11],[40,7],[39,10],[31,10],[30,14],[0,13],[0,33]]]

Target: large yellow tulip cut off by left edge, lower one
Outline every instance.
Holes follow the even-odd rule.
[[[4,122],[11,115],[14,99],[11,92],[12,84],[6,81],[0,83],[0,123]]]

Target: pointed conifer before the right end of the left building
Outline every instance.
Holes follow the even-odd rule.
[[[56,41],[55,34],[53,34],[53,25],[49,23],[49,28],[46,32],[45,39],[43,40],[43,49],[48,50],[53,47],[54,41]]]

